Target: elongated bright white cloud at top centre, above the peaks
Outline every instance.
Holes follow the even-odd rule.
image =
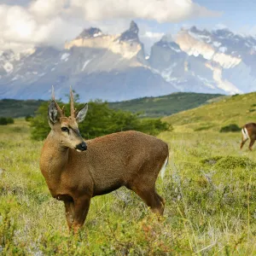
[[[89,20],[121,17],[178,22],[195,17],[219,15],[191,0],[71,0],[71,8],[80,9]]]

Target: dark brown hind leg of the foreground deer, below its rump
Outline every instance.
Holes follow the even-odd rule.
[[[158,195],[154,188],[140,189],[131,188],[145,203],[150,207],[151,211],[163,215],[165,208],[165,201]]]

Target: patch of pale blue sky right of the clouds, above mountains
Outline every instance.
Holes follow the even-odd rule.
[[[137,23],[146,23],[154,32],[176,33],[182,26],[198,26],[209,30],[227,27],[233,32],[256,35],[255,0],[195,0],[194,3],[216,11],[219,15],[165,23],[159,23],[156,20],[137,19]]]

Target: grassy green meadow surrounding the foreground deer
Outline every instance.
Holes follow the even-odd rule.
[[[23,119],[0,126],[0,255],[255,255],[256,152],[239,149],[240,133],[161,133],[170,147],[157,182],[164,217],[119,189],[92,200],[73,236],[29,131]]]

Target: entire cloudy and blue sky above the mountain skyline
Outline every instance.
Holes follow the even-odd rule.
[[[0,50],[62,48],[86,27],[124,32],[135,20],[149,49],[181,27],[256,35],[255,0],[0,0]]]

